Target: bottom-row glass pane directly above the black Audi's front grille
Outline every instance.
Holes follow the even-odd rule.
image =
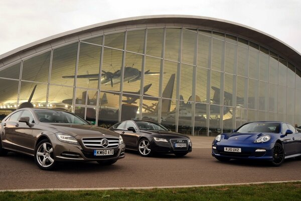
[[[194,105],[191,102],[180,101],[178,132],[186,135],[192,134],[192,111]]]

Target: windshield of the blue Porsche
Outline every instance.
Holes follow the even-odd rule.
[[[279,133],[280,123],[254,122],[243,125],[237,129],[237,133]]]

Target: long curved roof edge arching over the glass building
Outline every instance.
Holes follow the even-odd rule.
[[[69,37],[75,37],[78,39],[80,35],[92,36],[96,34],[105,33],[108,31],[116,31],[127,28],[139,28],[139,27],[154,27],[154,26],[187,26],[195,28],[203,28],[207,30],[214,30],[218,32],[224,32],[232,34],[241,38],[245,38],[252,42],[255,42],[263,47],[270,49],[271,51],[281,55],[299,70],[301,70],[301,54],[295,49],[280,41],[279,39],[270,36],[264,32],[253,29],[251,27],[241,25],[238,23],[220,20],[216,18],[207,18],[200,16],[187,16],[187,15],[156,15],[156,16],[140,16],[125,18],[119,20],[108,21],[104,23],[98,23],[79,29],[74,29],[68,32],[57,34],[28,45],[24,45],[20,48],[14,49],[10,52],[0,55],[0,62],[10,60],[12,57],[19,57],[24,54],[25,56],[38,52],[40,46],[52,47],[51,43],[55,41],[65,40]],[[35,50],[37,48],[37,50]],[[26,52],[30,52],[26,54]],[[22,58],[22,56],[20,56]],[[7,62],[5,62],[7,63]],[[1,65],[0,65],[1,66]]]

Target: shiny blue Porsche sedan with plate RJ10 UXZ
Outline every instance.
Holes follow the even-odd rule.
[[[284,159],[301,156],[301,133],[285,122],[250,122],[232,133],[216,136],[212,156],[220,161],[256,159],[280,166]]]

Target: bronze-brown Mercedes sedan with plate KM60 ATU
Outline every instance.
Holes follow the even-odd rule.
[[[53,169],[58,161],[110,165],[125,156],[119,134],[61,110],[14,111],[0,124],[0,138],[0,156],[9,151],[31,155],[43,170]]]

